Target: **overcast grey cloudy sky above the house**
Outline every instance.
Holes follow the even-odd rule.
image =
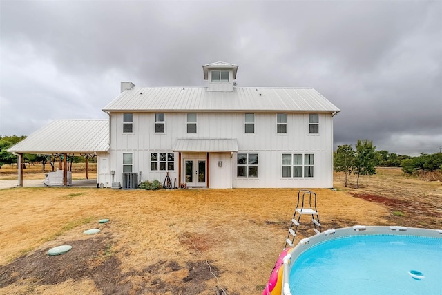
[[[442,1],[0,0],[0,135],[106,119],[121,81],[312,87],[340,108],[334,143],[442,146]]]

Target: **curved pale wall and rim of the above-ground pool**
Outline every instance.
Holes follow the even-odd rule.
[[[291,267],[293,266],[296,259],[307,249],[317,245],[320,242],[326,242],[327,240],[332,240],[335,238],[340,238],[344,236],[367,236],[367,235],[377,235],[377,234],[389,234],[398,236],[424,236],[424,237],[434,237],[442,238],[441,229],[418,229],[414,227],[377,227],[377,226],[365,226],[365,225],[355,225],[354,227],[345,227],[342,229],[329,229],[323,231],[321,234],[311,236],[309,238],[304,238],[298,242],[294,248],[285,249],[287,254],[282,258],[283,265],[279,272],[282,274],[278,275],[278,282],[276,286],[273,287],[275,292],[263,292],[263,294],[281,294],[281,295],[291,295],[289,286],[289,275]],[[267,287],[267,286],[266,286]]]

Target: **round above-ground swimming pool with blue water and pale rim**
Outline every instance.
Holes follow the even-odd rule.
[[[263,294],[442,294],[441,230],[332,229],[278,261]]]

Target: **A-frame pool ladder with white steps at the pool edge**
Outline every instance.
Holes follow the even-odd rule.
[[[307,198],[309,199],[308,204]],[[307,206],[309,207],[307,208]],[[284,249],[287,248],[287,245],[293,247],[293,242],[296,237],[296,231],[298,230],[298,227],[300,225],[300,219],[302,215],[311,215],[311,222],[313,223],[314,231],[316,234],[320,234],[321,229],[319,215],[318,210],[316,209],[316,193],[307,189],[302,189],[301,191],[298,191],[298,203],[296,204],[293,218],[291,218],[289,234],[287,235],[287,239],[285,240]]]

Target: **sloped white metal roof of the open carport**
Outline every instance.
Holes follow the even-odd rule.
[[[8,151],[39,154],[106,152],[108,143],[108,120],[54,120]]]

